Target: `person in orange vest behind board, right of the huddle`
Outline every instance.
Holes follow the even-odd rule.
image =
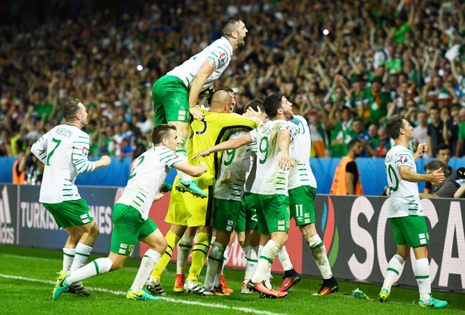
[[[348,147],[348,155],[344,156],[337,165],[331,195],[363,195],[360,172],[355,163],[355,158],[362,154],[362,143],[359,139],[352,139]]]

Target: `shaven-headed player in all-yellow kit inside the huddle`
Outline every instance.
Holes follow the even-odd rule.
[[[190,125],[192,137],[189,139],[187,154],[189,158],[207,147],[212,147],[215,143],[220,143],[228,136],[231,129],[241,128],[251,130],[257,127],[255,120],[230,114],[231,96],[227,91],[217,91],[212,96],[210,111],[201,109],[205,116],[201,120],[194,119]],[[167,266],[173,249],[178,244],[187,227],[198,227],[196,244],[192,249],[192,265],[189,269],[189,276],[185,281],[184,289],[187,292],[199,295],[211,295],[201,285],[198,285],[198,276],[201,273],[203,264],[210,249],[212,237],[212,212],[213,186],[218,174],[218,166],[221,155],[209,156],[202,159],[208,165],[208,172],[196,179],[198,187],[204,192],[208,192],[208,198],[195,197],[190,194],[183,194],[183,186],[180,186],[179,176],[176,177],[171,190],[171,199],[165,222],[171,224],[171,228],[165,236],[168,243],[167,251],[160,262],[155,266],[151,277],[146,283],[149,291],[160,294],[160,276]],[[192,162],[199,163],[200,161]]]

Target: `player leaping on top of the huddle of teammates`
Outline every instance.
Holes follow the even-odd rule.
[[[228,67],[233,51],[244,44],[247,28],[239,17],[228,17],[221,22],[220,39],[200,53],[192,56],[180,66],[153,84],[154,124],[168,123],[178,130],[179,145],[176,154],[187,161],[187,136],[189,112],[195,119],[202,118],[203,112],[196,109],[201,91],[208,89]],[[199,197],[208,193],[198,188],[189,175],[178,172],[179,183],[185,190]]]

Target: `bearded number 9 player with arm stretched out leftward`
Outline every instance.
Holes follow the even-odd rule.
[[[289,144],[292,143],[296,131],[295,127],[288,123],[288,120],[293,118],[292,104],[282,93],[265,98],[264,108],[271,119],[266,124],[241,138],[198,152],[194,159],[213,152],[257,143],[258,163],[251,192],[257,206],[258,231],[264,235],[271,233],[271,239],[264,246],[257,269],[247,286],[264,297],[282,298],[287,296],[287,292],[268,289],[262,281],[288,238],[290,217],[287,186],[289,168],[294,166],[289,156],[293,145],[289,147]]]

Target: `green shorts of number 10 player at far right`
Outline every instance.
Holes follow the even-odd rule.
[[[430,244],[428,227],[422,215],[390,217],[389,222],[391,222],[396,244],[407,244],[409,247]]]

